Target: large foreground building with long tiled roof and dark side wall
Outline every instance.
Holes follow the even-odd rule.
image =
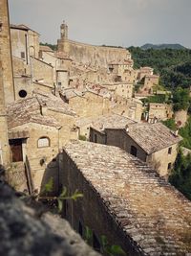
[[[155,170],[116,147],[74,142],[64,148],[60,183],[83,198],[63,216],[101,250],[100,238],[128,255],[189,255],[191,204]]]

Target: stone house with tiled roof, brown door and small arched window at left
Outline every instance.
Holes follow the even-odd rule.
[[[51,176],[56,180],[59,150],[78,137],[74,117],[69,105],[48,95],[34,94],[8,105],[11,162],[30,168],[38,192]]]

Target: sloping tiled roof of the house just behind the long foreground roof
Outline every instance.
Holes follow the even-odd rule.
[[[180,142],[180,136],[161,123],[129,126],[128,135],[148,154]]]

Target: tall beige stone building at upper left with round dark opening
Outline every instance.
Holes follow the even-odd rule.
[[[31,97],[41,89],[51,93],[55,88],[53,66],[39,59],[39,34],[25,25],[11,25],[11,54],[15,100]]]

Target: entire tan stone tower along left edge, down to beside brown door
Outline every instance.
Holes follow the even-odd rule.
[[[6,105],[14,101],[8,0],[0,0],[0,164],[10,165]]]

